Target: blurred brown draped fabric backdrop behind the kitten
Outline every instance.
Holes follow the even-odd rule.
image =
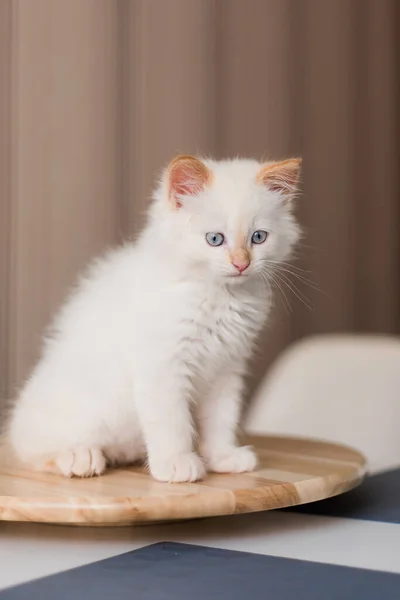
[[[397,0],[1,0],[0,396],[176,153],[304,157],[306,238],[255,361],[399,333]]]

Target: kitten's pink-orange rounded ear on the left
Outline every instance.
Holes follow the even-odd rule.
[[[178,156],[168,167],[168,195],[175,208],[182,206],[181,196],[195,196],[211,180],[210,169],[198,158]]]

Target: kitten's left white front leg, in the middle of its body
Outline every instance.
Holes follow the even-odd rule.
[[[193,422],[187,378],[158,371],[137,390],[137,410],[148,453],[150,473],[158,481],[202,479],[205,467],[193,452]]]

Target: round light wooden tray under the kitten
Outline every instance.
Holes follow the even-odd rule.
[[[64,479],[7,467],[0,457],[0,521],[116,526],[272,510],[341,494],[365,474],[364,457],[344,446],[284,437],[249,443],[256,471],[190,484],[159,483],[133,467]]]

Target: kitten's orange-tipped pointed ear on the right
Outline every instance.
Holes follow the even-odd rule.
[[[301,169],[301,158],[290,158],[280,162],[266,163],[258,173],[257,181],[285,199],[295,196]]]

